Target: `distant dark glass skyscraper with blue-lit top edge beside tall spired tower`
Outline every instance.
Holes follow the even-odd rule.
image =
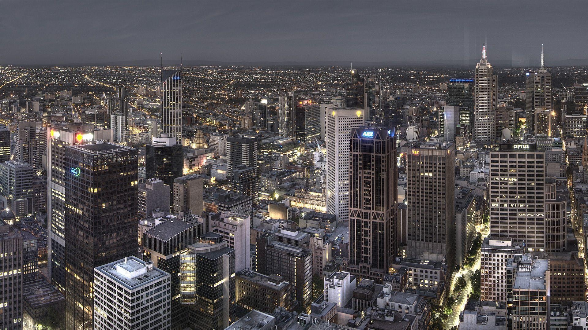
[[[447,84],[447,105],[459,106],[459,124],[469,126],[469,132],[474,125],[473,82],[472,78],[452,78]]]

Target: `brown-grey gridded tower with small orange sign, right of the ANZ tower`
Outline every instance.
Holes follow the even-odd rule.
[[[455,267],[455,144],[415,142],[406,149],[409,258]]]

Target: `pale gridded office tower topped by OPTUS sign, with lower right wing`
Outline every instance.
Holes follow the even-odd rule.
[[[566,198],[546,176],[545,150],[502,143],[490,151],[490,237],[512,237],[529,252],[566,248]]]

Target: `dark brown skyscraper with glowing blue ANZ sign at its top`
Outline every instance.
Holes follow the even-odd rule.
[[[395,129],[352,129],[349,164],[347,271],[382,283],[397,247]]]

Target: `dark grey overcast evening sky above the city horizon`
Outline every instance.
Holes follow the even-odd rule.
[[[588,58],[588,1],[0,1],[0,64]]]

